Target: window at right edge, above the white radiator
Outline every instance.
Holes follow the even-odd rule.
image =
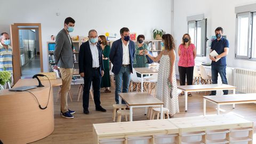
[[[237,13],[235,57],[256,59],[256,12]]]

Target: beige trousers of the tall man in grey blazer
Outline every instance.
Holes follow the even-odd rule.
[[[62,113],[68,111],[68,91],[72,81],[73,68],[60,68],[62,86],[60,90],[60,110]]]

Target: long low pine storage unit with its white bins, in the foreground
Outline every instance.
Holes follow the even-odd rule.
[[[252,144],[253,122],[228,114],[93,124],[93,137],[93,143]]]

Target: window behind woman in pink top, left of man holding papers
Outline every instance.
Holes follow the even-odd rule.
[[[196,53],[199,56],[206,56],[206,26],[207,19],[188,21],[188,34],[191,43],[196,46]]]

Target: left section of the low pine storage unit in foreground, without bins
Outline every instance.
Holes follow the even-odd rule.
[[[102,139],[148,136],[155,134],[177,134],[179,129],[167,119],[121,123],[93,124],[93,143]],[[154,138],[153,138],[154,139]],[[151,140],[152,143],[154,140]]]

